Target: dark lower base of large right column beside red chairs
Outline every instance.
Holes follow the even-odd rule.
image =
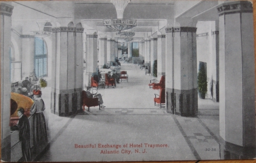
[[[190,90],[168,89],[167,106],[173,106],[173,114],[194,117],[197,115],[197,88]],[[171,97],[169,97],[171,95]],[[173,102],[172,102],[173,101]]]

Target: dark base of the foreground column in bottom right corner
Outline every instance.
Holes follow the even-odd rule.
[[[255,146],[242,147],[221,138],[220,155],[221,159],[252,159],[256,157],[256,148]]]

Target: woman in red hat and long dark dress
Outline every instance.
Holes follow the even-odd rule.
[[[34,129],[34,145],[46,144],[47,139],[47,127],[45,116],[43,111],[45,110],[45,103],[41,99],[41,90],[33,90],[34,94],[34,104],[31,107],[30,113],[34,115],[33,118],[33,129]]]

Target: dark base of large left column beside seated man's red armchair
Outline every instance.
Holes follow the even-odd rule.
[[[51,112],[59,116],[69,116],[82,110],[82,88],[55,90],[51,93]]]

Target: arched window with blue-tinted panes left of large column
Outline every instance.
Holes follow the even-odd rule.
[[[47,47],[40,37],[35,37],[35,73],[38,78],[47,76]]]

